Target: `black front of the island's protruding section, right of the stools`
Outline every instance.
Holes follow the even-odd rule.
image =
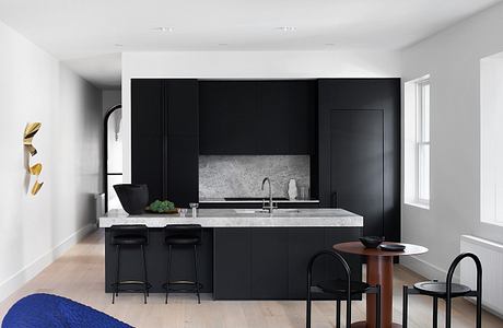
[[[214,229],[215,300],[305,300],[307,263],[319,250],[358,239],[360,227]],[[359,256],[343,255],[353,280],[362,279]],[[342,268],[320,260],[314,281],[342,278]]]

